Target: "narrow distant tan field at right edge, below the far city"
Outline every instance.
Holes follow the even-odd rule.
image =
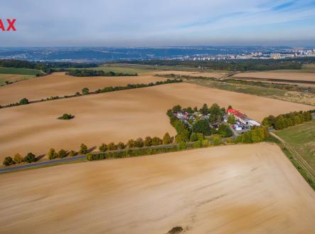
[[[257,73],[238,73],[232,78],[261,78],[261,79],[279,79],[279,80],[297,80],[297,81],[314,81],[315,73],[273,73],[273,72],[257,72]],[[300,82],[302,83],[302,82]]]

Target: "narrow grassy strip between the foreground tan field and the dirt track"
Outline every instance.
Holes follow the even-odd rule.
[[[269,135],[269,137],[267,137],[267,139],[265,139],[265,141],[266,142],[273,142],[273,143],[278,144],[280,149],[284,152],[284,154],[287,156],[287,158],[292,162],[292,164],[297,169],[297,171],[299,171],[301,176],[303,176],[305,181],[315,191],[315,182],[311,180],[311,178],[309,177],[307,172],[299,165],[299,162],[296,159],[294,159],[294,156],[293,156],[292,152],[289,151],[289,149],[287,149],[287,147],[285,147],[284,144],[282,144],[282,142],[279,141],[279,139],[277,139],[275,137],[272,137],[271,135]]]

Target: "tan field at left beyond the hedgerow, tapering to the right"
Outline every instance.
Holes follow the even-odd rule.
[[[0,105],[18,102],[26,97],[28,100],[41,100],[51,96],[73,95],[81,92],[83,87],[97,90],[108,86],[125,86],[128,84],[150,83],[163,78],[150,75],[128,77],[89,77],[77,78],[65,73],[53,73],[41,78],[24,80],[0,87]]]

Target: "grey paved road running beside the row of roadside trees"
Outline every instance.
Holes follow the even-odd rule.
[[[191,144],[191,142],[189,142],[188,144]],[[193,144],[193,143],[192,143]],[[167,144],[167,145],[159,145],[159,146],[154,146],[154,147],[142,147],[140,149],[168,149],[168,148],[172,148],[172,147],[176,147],[178,146],[178,144]],[[127,151],[128,149],[117,149],[117,150],[113,150],[113,151],[108,151],[108,152],[122,152],[122,151]],[[92,152],[92,154],[99,154],[100,152]],[[0,174],[1,173],[5,173],[5,172],[9,172],[9,171],[18,171],[21,169],[29,169],[32,167],[36,167],[36,166],[46,166],[46,165],[54,165],[54,164],[59,164],[59,163],[63,163],[63,162],[68,162],[68,161],[75,161],[78,159],[85,159],[86,156],[85,155],[77,155],[77,156],[72,156],[72,157],[68,157],[68,158],[64,158],[64,159],[53,159],[50,161],[41,161],[41,162],[35,162],[32,164],[25,164],[25,165],[20,165],[20,166],[8,166],[8,167],[4,167],[0,169]]]

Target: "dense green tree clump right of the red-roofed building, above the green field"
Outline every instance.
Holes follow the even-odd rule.
[[[311,121],[311,111],[300,111],[277,115],[277,117],[269,115],[262,120],[262,125],[281,130],[308,121]]]

